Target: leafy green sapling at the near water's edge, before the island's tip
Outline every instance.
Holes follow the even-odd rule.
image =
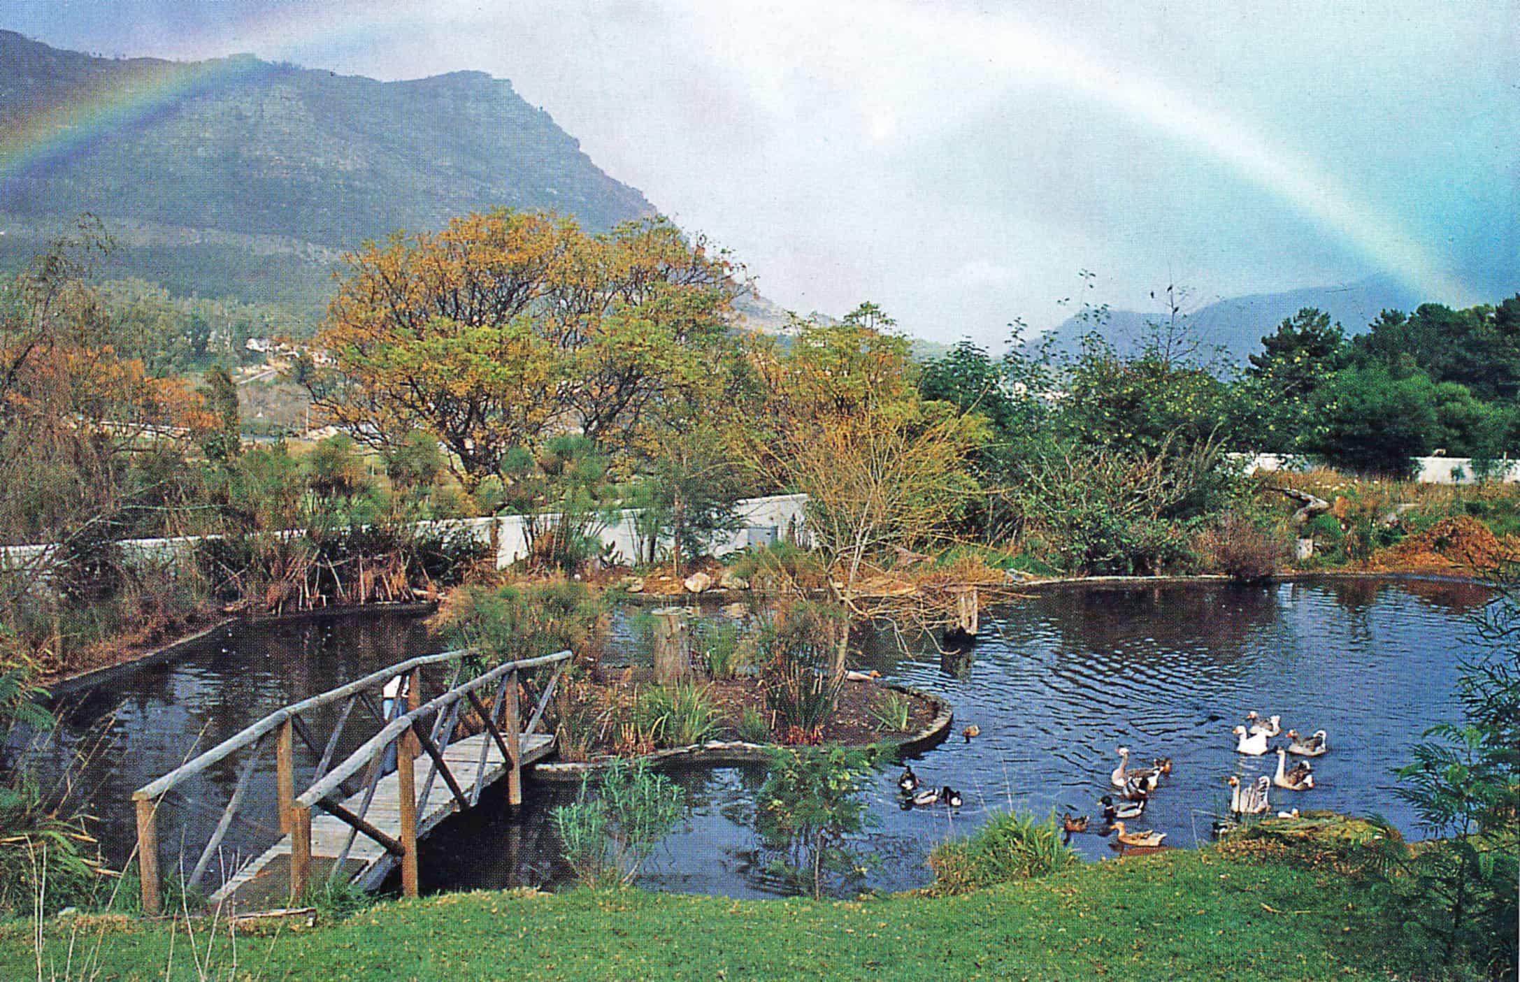
[[[821,898],[828,874],[848,882],[863,873],[850,836],[874,819],[865,792],[876,754],[844,746],[775,748],[769,760],[755,830],[775,854],[772,868]]]

